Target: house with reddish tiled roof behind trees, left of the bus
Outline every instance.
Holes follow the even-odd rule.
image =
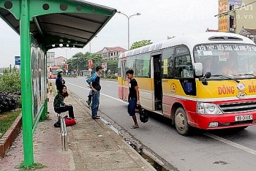
[[[102,58],[104,58],[106,61],[110,61],[117,60],[118,56],[125,51],[127,50],[122,47],[104,47],[97,53],[101,54]]]

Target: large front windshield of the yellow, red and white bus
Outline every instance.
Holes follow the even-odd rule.
[[[203,74],[235,78],[256,76],[256,46],[244,44],[202,44],[194,47],[195,62],[203,64]]]

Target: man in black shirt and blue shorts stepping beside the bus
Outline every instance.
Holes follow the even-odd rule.
[[[139,127],[135,110],[137,105],[140,105],[140,94],[139,94],[139,87],[138,83],[133,77],[133,70],[129,69],[127,71],[127,78],[129,79],[129,96],[128,96],[128,113],[132,116],[132,120],[134,121],[135,125],[131,127],[131,129],[137,129]]]

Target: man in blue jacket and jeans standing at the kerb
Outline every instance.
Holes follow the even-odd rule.
[[[86,80],[87,83],[89,83],[89,86],[92,90],[92,104],[91,104],[91,118],[93,119],[99,119],[100,116],[97,115],[99,110],[99,91],[101,89],[101,86],[99,85],[99,75],[102,74],[102,67],[97,66],[96,72],[89,77],[89,79]]]

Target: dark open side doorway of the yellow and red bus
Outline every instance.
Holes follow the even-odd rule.
[[[162,110],[162,55],[154,55],[153,77],[154,77],[154,109]]]

